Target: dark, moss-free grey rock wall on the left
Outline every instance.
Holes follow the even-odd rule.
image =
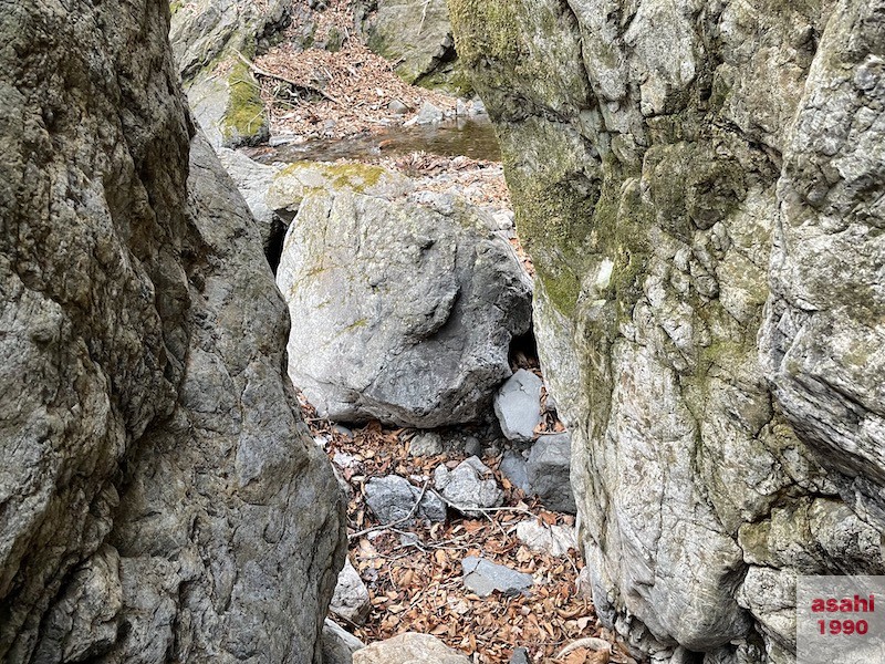
[[[320,661],[343,505],[168,11],[0,22],[3,662]]]

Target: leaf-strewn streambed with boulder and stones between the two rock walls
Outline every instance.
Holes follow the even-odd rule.
[[[425,149],[219,151],[263,229],[289,374],[348,499],[329,647],[360,645],[342,629],[364,643],[412,630],[478,662],[545,662],[602,625],[579,588],[570,437],[538,364],[531,263],[500,164],[431,152],[461,152],[477,126],[398,133]],[[612,661],[631,661],[605,635]]]

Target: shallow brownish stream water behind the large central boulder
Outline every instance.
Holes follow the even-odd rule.
[[[436,125],[391,127],[371,136],[352,138],[317,138],[305,143],[281,145],[261,156],[258,162],[334,162],[400,156],[426,152],[444,157],[466,156],[471,159],[500,162],[501,151],[491,122],[477,120],[447,121]]]

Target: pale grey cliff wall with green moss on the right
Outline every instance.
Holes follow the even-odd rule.
[[[662,660],[789,662],[798,573],[883,570],[885,6],[449,7],[597,611]]]

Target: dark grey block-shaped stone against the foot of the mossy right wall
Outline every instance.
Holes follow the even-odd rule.
[[[541,436],[529,453],[525,470],[531,490],[544,507],[555,511],[577,511],[570,477],[572,457],[569,433]]]

